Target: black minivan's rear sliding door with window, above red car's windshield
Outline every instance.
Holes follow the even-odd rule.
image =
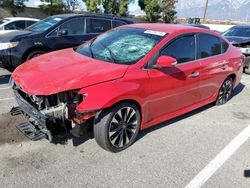
[[[88,40],[111,29],[111,20],[102,18],[86,18]]]

